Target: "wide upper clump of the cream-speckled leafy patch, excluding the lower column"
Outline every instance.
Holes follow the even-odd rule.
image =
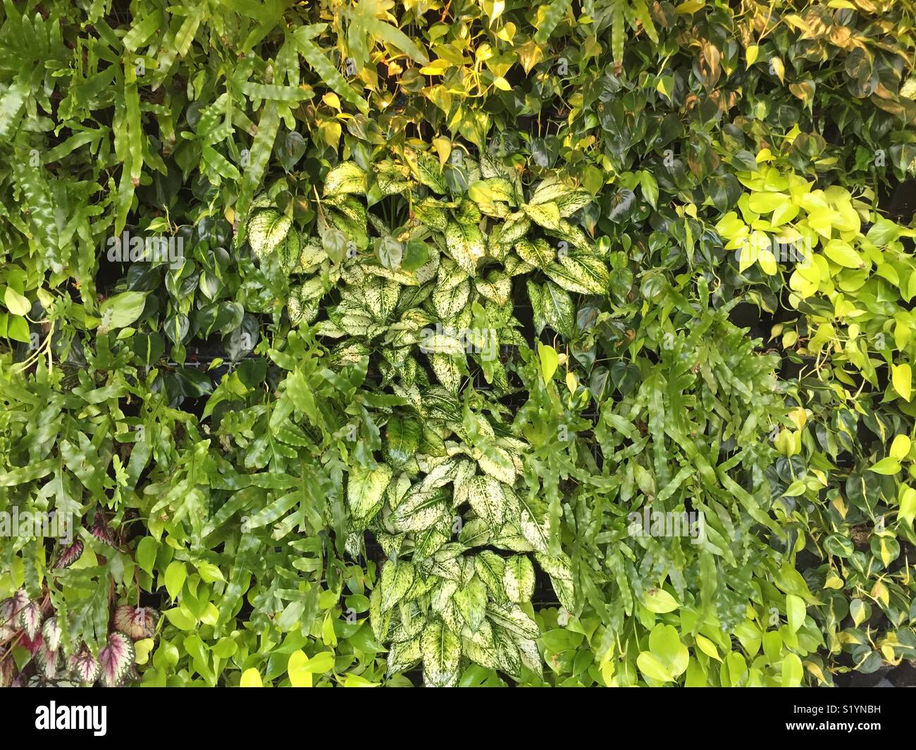
[[[525,343],[509,304],[513,278],[531,274],[529,299],[540,327],[566,333],[573,327],[570,292],[602,293],[608,283],[604,253],[569,221],[591,202],[589,193],[548,178],[526,199],[519,172],[505,160],[484,154],[479,162],[461,161],[469,184],[452,191],[451,200],[442,197],[448,185],[439,160],[405,148],[374,164],[371,181],[354,161],[328,174],[319,237],[302,237],[291,206],[283,214],[263,195],[247,225],[255,255],[277,259],[290,274],[290,320],[314,322],[336,289],[339,300],[316,331],[344,339],[336,348],[342,361],[381,349],[386,381],[413,399],[413,386],[429,380],[418,350],[448,392],[458,392],[468,374],[465,354],[496,390],[507,390],[496,347]],[[387,226],[367,210],[369,182],[376,200],[401,196],[409,220]],[[370,244],[381,250],[367,254]]]

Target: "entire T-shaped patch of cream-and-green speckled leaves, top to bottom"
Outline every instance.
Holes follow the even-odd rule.
[[[337,362],[379,352],[381,385],[403,404],[389,410],[385,462],[350,471],[347,546],[363,552],[369,530],[383,547],[374,633],[391,643],[389,672],[421,660],[431,685],[455,684],[462,656],[515,678],[540,674],[538,628],[518,607],[534,590],[527,553],[572,607],[569,560],[548,554],[546,505],[517,491],[529,446],[510,435],[509,410],[481,393],[512,390],[502,360],[526,344],[511,305],[516,277],[527,277],[540,327],[558,331],[572,329],[571,292],[608,283],[603,253],[570,221],[589,193],[547,178],[526,194],[507,160],[462,162],[469,183],[454,191],[424,151],[403,149],[371,175],[344,161],[324,185],[320,236],[302,237],[264,195],[246,226],[260,262],[289,274],[290,321],[338,340]],[[396,196],[408,220],[388,226],[367,193]],[[491,386],[472,401],[458,395],[467,358]],[[475,552],[483,546],[516,554]]]

